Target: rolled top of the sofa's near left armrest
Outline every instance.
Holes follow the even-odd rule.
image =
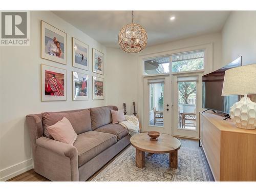
[[[78,156],[76,147],[69,145],[67,143],[62,143],[47,137],[40,137],[36,139],[36,144],[51,150],[52,152],[58,153],[69,158]]]

